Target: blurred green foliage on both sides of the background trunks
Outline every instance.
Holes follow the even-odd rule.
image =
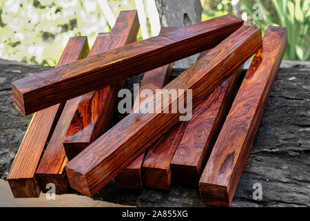
[[[267,26],[287,26],[289,46],[285,59],[310,60],[309,0],[200,0],[202,20],[231,13],[252,19],[260,4]],[[135,9],[134,0],[110,0],[115,17]],[[256,13],[257,14],[257,13]],[[73,36],[87,35],[90,46],[99,32],[111,29],[97,0],[0,0],[0,57],[30,64],[55,66]],[[152,30],[151,30],[152,31]],[[138,40],[142,39],[141,31]]]

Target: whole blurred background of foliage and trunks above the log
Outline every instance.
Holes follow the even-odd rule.
[[[263,33],[267,26],[286,26],[284,59],[310,61],[309,8],[309,0],[0,0],[0,58],[55,66],[70,37],[87,35],[92,46],[99,32],[111,30],[121,10],[136,9],[138,40],[158,35],[161,26],[187,26],[231,13],[252,20]]]

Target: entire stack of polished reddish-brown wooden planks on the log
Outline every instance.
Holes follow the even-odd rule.
[[[91,197],[114,179],[123,189],[196,186],[205,204],[231,204],[287,47],[287,29],[269,27],[262,39],[260,28],[225,15],[162,28],[136,42],[138,28],[136,11],[121,12],[92,50],[86,37],[72,37],[56,68],[12,82],[15,106],[23,115],[34,113],[8,175],[14,197],[39,197],[49,184],[59,194],[71,187]],[[196,63],[170,81],[173,62],[196,53]],[[113,126],[118,91],[141,73],[140,90],[183,93],[137,97],[132,113]],[[172,109],[176,100],[186,101],[189,89],[187,121],[179,120],[180,111],[141,110],[145,101],[154,110]]]

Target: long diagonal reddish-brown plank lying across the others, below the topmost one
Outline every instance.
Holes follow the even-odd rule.
[[[260,28],[239,28],[165,86],[167,90],[184,89],[184,93],[179,91],[174,99],[165,96],[164,100],[159,93],[154,98],[153,104],[157,104],[154,113],[127,115],[68,162],[66,172],[70,186],[85,195],[94,195],[178,121],[178,111],[156,113],[159,106],[170,109],[180,99],[186,102],[189,89],[192,90],[192,104],[196,106],[261,46]]]

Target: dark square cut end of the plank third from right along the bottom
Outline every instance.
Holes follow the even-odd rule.
[[[154,189],[170,190],[172,176],[169,169],[145,168],[142,167],[142,176],[145,186]]]

